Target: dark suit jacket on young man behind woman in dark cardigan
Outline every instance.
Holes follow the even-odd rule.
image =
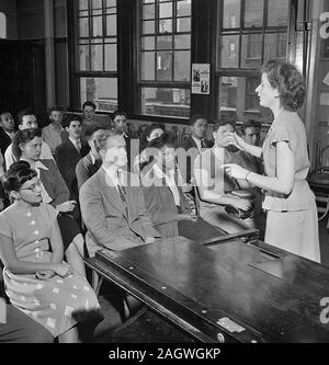
[[[81,151],[79,153],[70,139],[67,139],[56,148],[55,159],[57,167],[70,191],[70,198],[72,199],[77,199],[79,196],[76,167],[81,158],[89,152],[89,150],[90,147],[82,142]]]

